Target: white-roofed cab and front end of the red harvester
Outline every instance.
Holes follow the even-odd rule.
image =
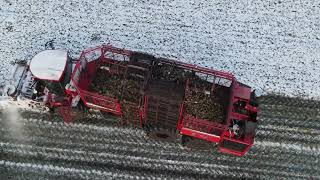
[[[27,62],[15,63],[5,92],[12,97],[42,101],[49,108],[60,105],[72,68],[66,50],[44,50]]]

